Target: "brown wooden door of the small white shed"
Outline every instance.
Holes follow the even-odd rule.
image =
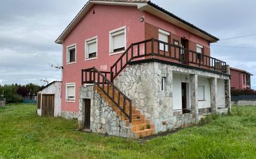
[[[54,95],[42,95],[42,116],[54,116]]]

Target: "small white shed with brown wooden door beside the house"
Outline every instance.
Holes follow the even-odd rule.
[[[37,114],[60,116],[62,106],[62,82],[53,81],[37,92]]]

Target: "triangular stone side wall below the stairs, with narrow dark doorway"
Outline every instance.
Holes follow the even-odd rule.
[[[127,138],[131,137],[130,127],[127,127],[126,122],[121,121],[116,112],[112,111],[112,108],[104,98],[102,98],[96,90],[93,90],[93,86],[80,88],[80,111],[78,115],[79,129],[83,129],[84,125],[84,99],[91,99],[90,129],[92,132]]]

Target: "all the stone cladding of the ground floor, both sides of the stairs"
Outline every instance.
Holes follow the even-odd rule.
[[[173,111],[173,74],[186,74],[190,83],[191,113]],[[211,105],[209,108],[198,108],[198,77],[211,79]],[[161,90],[161,80],[165,81]],[[226,108],[218,109],[216,105],[217,79],[224,79],[226,92]],[[114,84],[132,100],[132,105],[149,119],[155,126],[155,132],[167,131],[178,127],[186,127],[197,123],[201,116],[209,113],[227,113],[230,110],[230,80],[228,75],[214,72],[172,66],[160,62],[132,64],[114,80]],[[84,129],[85,99],[91,100],[90,129],[92,132],[132,137],[130,126],[121,121],[111,106],[95,90],[94,85],[80,88],[78,129]],[[214,88],[213,88],[214,87]],[[75,114],[66,114],[75,116]]]

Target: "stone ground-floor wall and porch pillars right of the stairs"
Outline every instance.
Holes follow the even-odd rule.
[[[191,113],[173,115],[173,73],[190,75]],[[229,76],[214,72],[188,69],[160,62],[132,64],[126,67],[115,80],[121,91],[132,100],[132,103],[146,119],[155,125],[155,132],[167,131],[176,126],[186,126],[199,121],[197,88],[198,76],[224,79],[229,84]],[[161,80],[165,81],[164,91],[161,90]],[[226,87],[226,97],[229,95]],[[227,100],[228,105],[228,100]],[[208,108],[200,113],[208,112]]]

